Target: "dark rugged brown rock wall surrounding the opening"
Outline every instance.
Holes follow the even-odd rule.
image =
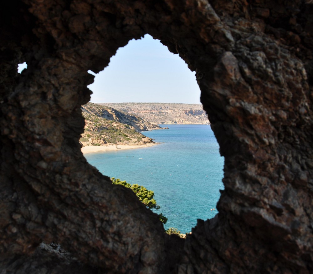
[[[64,258],[39,249],[54,241],[83,264],[58,273],[312,273],[306,2],[2,1],[1,271],[25,273],[27,262],[31,272],[40,258],[36,273],[56,273],[52,260]],[[167,237],[156,214],[80,152],[87,71],[145,33],[196,71],[225,157],[219,213],[185,240]]]

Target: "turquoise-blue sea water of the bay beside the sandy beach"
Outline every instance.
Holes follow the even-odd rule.
[[[164,228],[190,232],[197,219],[218,213],[224,158],[210,125],[161,126],[169,129],[143,132],[160,144],[85,158],[104,175],[153,190],[161,207],[156,213],[168,218]]]

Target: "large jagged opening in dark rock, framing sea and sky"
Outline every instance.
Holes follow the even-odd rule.
[[[104,71],[89,73],[95,75],[94,83],[88,86],[93,91],[90,102],[101,105],[97,110],[95,105],[83,107],[87,126],[80,141],[84,146],[93,146],[92,151],[95,152],[84,153],[87,161],[106,176],[131,184],[138,183],[154,191],[156,202],[161,206],[156,213],[162,212],[168,218],[164,226],[166,229],[175,227],[181,232],[190,232],[197,219],[213,218],[218,213],[219,190],[224,188],[224,158],[219,154],[219,145],[200,105],[200,89],[195,73],[177,54],[169,52],[166,46],[150,35],[141,40],[133,39],[120,48]],[[132,103],[132,106],[123,103]],[[198,120],[199,125],[168,124],[156,121],[150,115],[152,122],[170,130],[146,131],[146,128],[141,130],[136,126],[135,129],[162,144],[151,148],[121,149],[134,145],[131,144],[134,138],[128,135],[123,139],[121,135],[125,133],[121,133],[116,117],[119,120],[123,118],[105,108],[109,106],[118,111],[143,115],[141,117],[149,121],[146,112],[168,115],[176,111],[175,104],[182,104],[180,115],[186,117],[196,117],[198,111],[198,116],[202,118]],[[199,109],[190,109],[196,104]],[[138,108],[142,110],[140,113]],[[92,110],[98,117],[90,116]],[[205,116],[205,121],[202,116]],[[101,118],[105,118],[102,125]],[[132,127],[129,121],[126,124]],[[115,130],[117,138],[110,138],[105,127]],[[185,140],[177,136],[184,136]],[[114,141],[118,147],[109,150],[110,146],[115,148]],[[108,151],[101,152],[104,151],[102,147],[107,147]]]

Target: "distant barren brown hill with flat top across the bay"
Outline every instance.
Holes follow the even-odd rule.
[[[210,124],[201,104],[98,103],[142,117],[156,124]]]

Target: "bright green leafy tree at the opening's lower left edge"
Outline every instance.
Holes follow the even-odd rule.
[[[120,179],[111,178],[112,183],[120,184],[126,188],[130,188],[138,197],[138,199],[143,203],[147,208],[151,210],[159,210],[160,206],[156,203],[154,199],[154,192],[152,190],[146,189],[142,185],[127,183],[126,181],[121,181]],[[162,213],[159,214],[159,219],[163,224],[166,224],[167,218],[163,216]]]

